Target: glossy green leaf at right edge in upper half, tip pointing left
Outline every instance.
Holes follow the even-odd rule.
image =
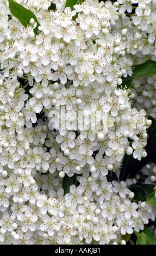
[[[149,59],[144,63],[133,65],[132,69],[132,76],[122,77],[122,87],[127,86],[127,88],[129,88],[135,78],[156,74],[156,62]]]

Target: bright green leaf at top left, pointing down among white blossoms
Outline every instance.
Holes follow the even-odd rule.
[[[35,35],[38,34],[38,27],[40,26],[40,23],[38,22],[36,16],[32,13],[32,11],[26,9],[21,4],[18,4],[14,2],[13,0],[9,0],[9,9],[11,14],[18,19],[18,21],[21,22],[21,24],[26,28],[28,25],[30,25],[30,19],[34,19],[34,21],[37,23],[36,28],[34,29]]]

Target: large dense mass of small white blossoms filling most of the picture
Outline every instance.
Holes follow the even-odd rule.
[[[133,202],[134,180],[107,176],[118,177],[125,154],[147,156],[151,121],[119,87],[134,63],[155,58],[155,1],[73,10],[65,1],[14,2],[40,26],[37,35],[34,19],[24,28],[1,1],[0,241],[125,244],[155,219],[154,206]],[[65,175],[77,178],[66,194]]]

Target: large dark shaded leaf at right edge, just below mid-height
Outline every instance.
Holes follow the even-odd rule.
[[[147,133],[147,145],[145,147],[147,156],[142,157],[139,161],[134,159],[133,155],[127,154],[123,157],[122,168],[120,172],[120,179],[126,180],[128,176],[136,175],[147,163],[152,162],[156,156],[156,120],[152,117],[148,117],[152,120],[151,126],[149,126]]]

